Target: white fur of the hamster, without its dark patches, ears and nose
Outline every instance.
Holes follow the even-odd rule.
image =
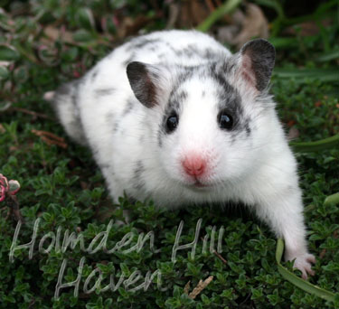
[[[157,44],[156,51],[150,48],[133,50],[133,61],[163,64],[162,80],[158,85],[161,90],[157,94],[161,101],[159,106],[150,109],[137,102],[127,80],[126,61],[132,54],[133,40],[99,61],[78,89],[84,136],[104,173],[113,199],[117,201],[127,192],[138,200],[152,198],[156,205],[166,207],[242,201],[253,208],[278,237],[285,239],[286,258],[297,258],[295,266],[303,276],[311,274],[310,262],[314,262],[314,257],[306,248],[297,164],[272,98],[268,95],[259,98],[259,92],[239,75],[230,76],[231,85],[240,92],[245,116],[252,119],[250,139],[242,132],[231,141],[216,121],[216,93],[220,86],[212,80],[193,76],[180,86],[188,93],[188,98],[180,113],[178,129],[165,136],[159,147],[156,132],[163,118],[169,89],[175,82],[175,68],[200,66],[209,61],[202,57],[202,52],[178,57],[173,49],[181,50],[195,44],[201,51],[208,48],[220,54],[221,62],[230,59],[231,52],[211,37],[193,31],[151,33],[145,38],[161,38],[162,42]],[[92,78],[95,72],[98,76]],[[98,96],[98,91],[109,89],[113,89],[111,95]],[[203,99],[202,91],[205,92]],[[135,102],[133,111],[121,117],[131,99]],[[261,104],[258,103],[260,99]],[[263,103],[263,100],[266,101]],[[59,114],[68,133],[83,142],[78,132],[72,135],[70,107],[63,108]],[[116,131],[115,126],[118,126]],[[192,153],[203,155],[208,161],[209,173],[202,178],[202,183],[209,185],[207,188],[194,187],[183,171],[181,161]],[[142,187],[133,185],[138,160],[144,165]]]

